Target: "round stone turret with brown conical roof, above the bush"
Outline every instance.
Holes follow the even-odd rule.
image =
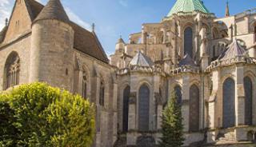
[[[74,30],[60,0],[50,0],[32,24],[30,82],[71,91]],[[54,79],[54,80],[52,80]]]

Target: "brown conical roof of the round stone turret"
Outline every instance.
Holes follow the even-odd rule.
[[[60,0],[50,0],[40,14],[38,14],[38,17],[35,18],[34,22],[42,19],[56,19],[62,22],[70,22]]]

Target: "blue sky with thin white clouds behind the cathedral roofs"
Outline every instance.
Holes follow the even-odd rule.
[[[46,4],[47,0],[38,0]],[[62,0],[70,19],[90,29],[95,23],[96,33],[106,50],[114,53],[120,35],[127,42],[129,34],[141,31],[142,24],[160,22],[176,0]],[[203,0],[217,17],[225,14],[226,0]],[[230,0],[230,14],[238,14],[256,7],[255,0]],[[9,17],[14,0],[0,0],[0,27]]]

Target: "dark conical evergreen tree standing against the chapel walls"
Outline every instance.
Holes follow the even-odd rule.
[[[161,147],[180,147],[183,145],[182,105],[178,104],[173,92],[162,113]]]

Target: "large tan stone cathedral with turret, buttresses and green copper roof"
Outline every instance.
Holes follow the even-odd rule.
[[[60,0],[16,0],[0,32],[0,71],[0,90],[43,81],[94,103],[94,147],[158,145],[173,93],[184,146],[256,141],[256,9],[230,15],[226,4],[217,18],[202,0],[177,0],[108,58]]]

